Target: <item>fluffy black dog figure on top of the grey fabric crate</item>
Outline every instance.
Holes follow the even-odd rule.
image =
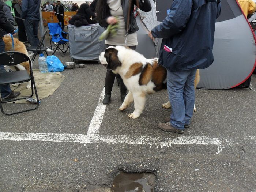
[[[91,20],[91,10],[90,6],[87,3],[83,3],[81,7],[78,9],[76,15],[72,16],[69,20],[69,24],[75,25],[76,27],[80,27],[82,25],[94,24],[97,23],[96,20]]]

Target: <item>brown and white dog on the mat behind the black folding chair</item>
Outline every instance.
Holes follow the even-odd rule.
[[[29,53],[27,52],[26,46],[23,44],[23,42],[19,41],[17,38],[13,38],[13,39],[14,39],[14,50],[24,53],[27,56],[29,56]],[[12,50],[12,38],[10,36],[5,36],[5,37],[3,37],[3,41],[5,44],[5,51],[11,51]],[[12,71],[27,70],[27,72],[30,74],[29,61],[20,63],[18,65],[9,66],[9,68]],[[20,84],[21,83],[12,84],[12,86],[17,87]],[[31,81],[28,82],[27,89],[31,89]]]

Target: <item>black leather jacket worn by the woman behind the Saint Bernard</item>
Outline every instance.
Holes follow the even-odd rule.
[[[138,0],[139,1],[139,8],[144,11],[148,12],[151,10],[151,4],[149,0]],[[130,12],[130,19],[129,19],[129,29],[128,29],[128,34],[134,33],[139,30],[139,27],[137,26],[136,19],[133,14],[133,7],[136,5],[136,0],[132,0],[131,2],[131,12]],[[122,9],[124,12],[124,22],[125,22],[125,29],[127,27],[127,16],[128,16],[128,11],[129,11],[129,0],[122,0]],[[110,17],[110,8],[108,8],[107,14],[103,15],[103,19],[99,20],[99,25],[101,27],[107,27],[107,18]],[[127,30],[127,29],[126,29]]]

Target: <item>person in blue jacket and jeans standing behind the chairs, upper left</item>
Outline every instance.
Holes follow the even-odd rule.
[[[24,21],[27,38],[31,46],[39,44],[38,24],[40,20],[40,0],[22,0],[20,17]]]

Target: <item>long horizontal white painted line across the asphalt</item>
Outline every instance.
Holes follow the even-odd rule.
[[[94,135],[90,140],[83,134],[57,134],[57,133],[3,133],[0,132],[0,140],[12,141],[48,141],[48,142],[73,142],[73,143],[107,143],[107,144],[148,144],[150,146],[199,144],[199,145],[220,145],[217,138],[205,136],[179,136],[175,139],[160,137],[125,136],[125,135]]]

